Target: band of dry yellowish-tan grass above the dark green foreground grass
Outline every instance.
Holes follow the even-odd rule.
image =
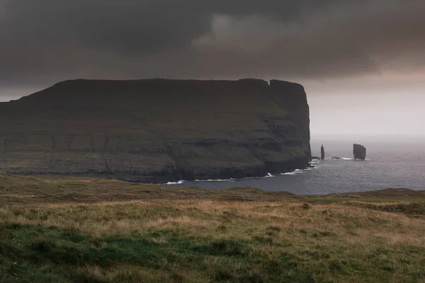
[[[101,202],[95,204],[11,205],[0,208],[0,215],[19,224],[55,225],[63,229],[96,231],[125,235],[137,229],[163,229],[176,224],[181,229],[208,229],[223,217],[244,225],[279,226],[285,229],[328,231],[336,235],[358,234],[425,241],[425,221],[405,214],[382,212],[346,204],[310,204],[300,202],[220,202],[214,200],[152,200],[149,202]],[[378,207],[386,204],[380,203]],[[34,214],[34,216],[30,216]],[[225,215],[225,216],[223,216]],[[203,231],[201,229],[200,231]],[[208,231],[210,232],[210,231]],[[353,236],[351,235],[351,236]],[[416,238],[415,238],[416,237]],[[353,238],[358,238],[358,236]],[[423,242],[421,242],[423,243]]]

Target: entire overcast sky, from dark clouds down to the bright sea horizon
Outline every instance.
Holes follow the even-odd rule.
[[[424,0],[0,0],[0,101],[66,79],[302,83],[312,137],[425,136]]]

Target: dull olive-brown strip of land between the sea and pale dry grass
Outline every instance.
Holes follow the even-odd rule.
[[[266,177],[272,178],[272,177]],[[165,184],[128,183],[116,179],[65,177],[65,176],[20,176],[0,173],[0,202],[73,201],[102,202],[157,200],[157,199],[217,199],[232,200],[239,196],[246,201],[281,201],[313,199],[364,200],[410,200],[424,201],[425,190],[387,188],[383,190],[359,190],[330,194],[295,194],[293,192],[268,192],[254,187],[232,187],[223,190],[205,190],[199,187],[173,187]],[[353,197],[354,196],[354,197]]]

